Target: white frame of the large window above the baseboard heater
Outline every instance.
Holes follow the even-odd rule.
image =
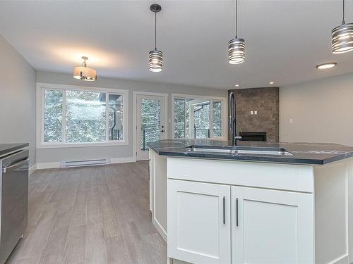
[[[63,91],[63,100],[62,100],[62,142],[44,142],[44,90],[60,90]],[[83,92],[104,92],[106,94],[106,140],[102,142],[75,142],[68,143],[66,142],[66,91],[83,91]],[[71,147],[85,147],[85,146],[126,146],[128,145],[128,90],[124,89],[109,89],[102,87],[83,87],[78,85],[65,85],[65,84],[49,84],[37,82],[37,104],[36,104],[36,112],[37,112],[37,149],[54,149],[54,148],[71,148]],[[107,134],[109,135],[109,108],[107,107],[107,101],[109,100],[109,94],[119,94],[123,96],[124,102],[124,114],[123,114],[123,133],[124,139],[122,140],[107,140]]]

